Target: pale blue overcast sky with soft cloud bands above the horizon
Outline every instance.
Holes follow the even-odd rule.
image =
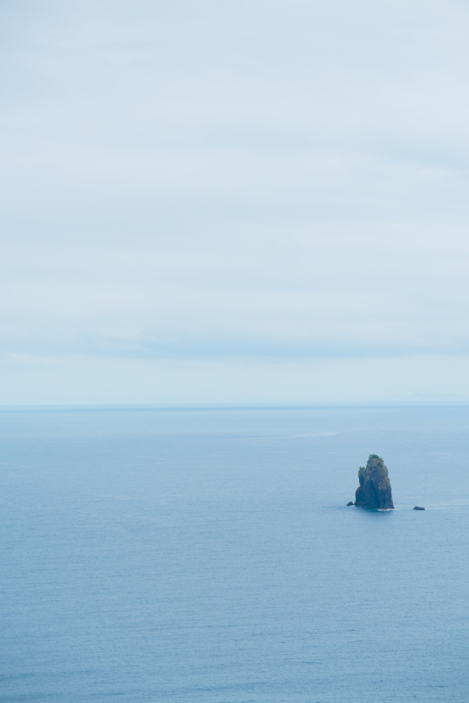
[[[3,0],[0,405],[469,394],[469,3]]]

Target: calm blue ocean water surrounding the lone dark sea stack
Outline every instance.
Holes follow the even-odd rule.
[[[469,700],[468,406],[0,423],[3,703]]]

